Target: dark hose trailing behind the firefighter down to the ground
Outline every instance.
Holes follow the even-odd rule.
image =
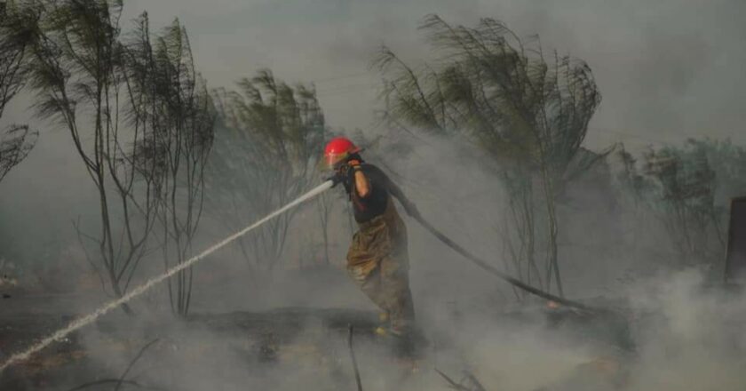
[[[478,267],[481,267],[482,269],[488,271],[492,275],[496,275],[498,278],[504,280],[507,283],[511,283],[513,286],[518,287],[522,289],[523,291],[528,291],[528,293],[534,294],[542,299],[552,300],[555,303],[561,304],[566,307],[572,307],[572,308],[576,308],[576,309],[580,309],[580,310],[588,311],[588,312],[600,312],[601,311],[600,308],[589,307],[575,300],[570,300],[570,299],[561,298],[559,296],[555,296],[552,293],[545,292],[531,285],[528,285],[528,283],[523,283],[517,278],[512,277],[511,275],[506,275],[505,273],[496,269],[496,267],[489,265],[488,262],[477,258],[477,256],[475,256],[471,252],[464,249],[464,247],[458,245],[458,243],[451,240],[448,236],[443,235],[443,233],[440,232],[436,227],[433,227],[433,224],[430,224],[427,220],[423,219],[423,217],[420,216],[419,213],[415,213],[414,215],[412,215],[412,218],[416,219],[417,222],[420,223],[420,225],[422,225],[422,227],[425,227],[425,229],[430,231],[430,233],[433,234],[435,237],[437,237],[440,240],[440,242],[445,243],[448,247],[450,247],[454,251],[464,256],[465,259],[471,260]]]

